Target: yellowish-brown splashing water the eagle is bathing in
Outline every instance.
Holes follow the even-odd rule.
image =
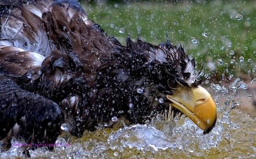
[[[173,122],[156,119],[144,125],[86,131],[80,138],[65,135],[59,137],[52,152],[45,147],[28,151],[31,158],[255,158],[255,81],[237,78],[228,87],[210,84],[218,119],[206,135],[181,116]],[[250,115],[241,109],[249,109]],[[26,156],[22,141],[14,139],[12,144],[0,158]]]

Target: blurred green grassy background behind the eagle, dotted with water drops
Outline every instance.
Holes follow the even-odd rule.
[[[81,1],[89,19],[126,45],[158,45],[167,35],[209,79],[255,78],[256,1]]]

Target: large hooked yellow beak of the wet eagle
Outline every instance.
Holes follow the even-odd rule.
[[[167,95],[172,106],[187,115],[197,126],[207,134],[212,130],[217,119],[216,105],[210,93],[203,87],[180,87],[174,95]]]

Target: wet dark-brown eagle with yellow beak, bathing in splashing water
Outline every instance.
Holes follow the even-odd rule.
[[[75,0],[0,2],[0,140],[54,143],[63,131],[81,136],[119,118],[145,123],[185,114],[204,133],[216,105],[200,86],[195,59],[170,40],[126,46]]]

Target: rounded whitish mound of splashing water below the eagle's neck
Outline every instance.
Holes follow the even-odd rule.
[[[119,129],[109,135],[108,142],[111,149],[118,149],[120,152],[126,147],[135,147],[141,151],[150,151],[150,148],[154,149],[154,151],[167,148],[183,148],[180,144],[181,142],[171,136],[156,130],[154,127],[142,124],[134,124],[130,127]]]

